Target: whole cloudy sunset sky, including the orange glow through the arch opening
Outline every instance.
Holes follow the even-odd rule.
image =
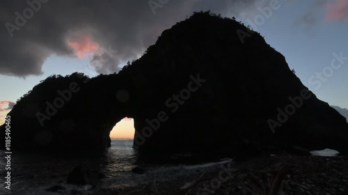
[[[0,124],[47,76],[117,73],[200,10],[250,25],[319,99],[348,108],[347,0],[3,0]],[[122,119],[111,137],[134,137],[132,119]]]

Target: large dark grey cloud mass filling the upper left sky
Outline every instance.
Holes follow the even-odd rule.
[[[104,74],[117,72],[121,62],[138,58],[145,48],[155,43],[161,31],[193,11],[238,15],[255,1],[161,0],[164,3],[161,5],[159,0],[2,0],[0,74],[40,75],[42,64],[50,55],[74,57],[79,55],[76,48],[86,52],[95,44],[117,51],[113,56],[102,49],[90,51],[95,69]],[[16,21],[17,15],[24,20]],[[88,38],[79,38],[82,35]]]

